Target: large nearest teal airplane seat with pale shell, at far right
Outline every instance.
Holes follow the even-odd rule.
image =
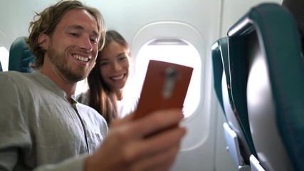
[[[231,94],[238,108],[245,92],[256,150],[251,170],[304,170],[304,65],[295,19],[278,4],[259,4],[227,35]]]

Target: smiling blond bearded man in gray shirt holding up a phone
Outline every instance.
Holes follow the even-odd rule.
[[[79,1],[37,14],[28,45],[34,73],[0,73],[0,170],[168,170],[184,128],[180,110],[105,119],[74,100],[95,65],[103,17]],[[150,136],[148,136],[150,135]]]

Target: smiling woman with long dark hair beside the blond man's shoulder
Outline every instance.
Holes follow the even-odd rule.
[[[124,99],[123,88],[130,75],[130,46],[120,33],[107,31],[105,47],[88,76],[88,91],[78,96],[80,103],[95,108],[110,125],[111,120],[132,113],[137,101]]]

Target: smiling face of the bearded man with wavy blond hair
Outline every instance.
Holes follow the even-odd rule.
[[[98,24],[88,11],[68,11],[58,23],[46,51],[53,74],[75,83],[86,78],[98,53]]]

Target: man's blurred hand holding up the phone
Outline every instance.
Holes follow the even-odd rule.
[[[85,162],[85,170],[169,170],[179,152],[185,128],[182,110],[158,110],[112,122],[103,145]],[[169,129],[166,129],[169,128]]]

